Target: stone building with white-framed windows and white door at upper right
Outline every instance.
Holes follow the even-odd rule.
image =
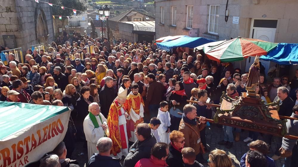
[[[297,0],[155,0],[156,39],[189,35],[214,40],[256,38],[277,43],[298,43]],[[191,30],[192,29],[192,30]],[[248,71],[248,58],[234,63]],[[275,63],[262,62],[266,70]],[[296,67],[295,67],[296,68]]]

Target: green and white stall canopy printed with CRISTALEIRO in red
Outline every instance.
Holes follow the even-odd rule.
[[[26,166],[52,151],[64,139],[70,112],[62,106],[1,101],[0,150],[5,156],[0,156],[5,159],[0,164]]]

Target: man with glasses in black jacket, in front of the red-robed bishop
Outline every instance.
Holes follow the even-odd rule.
[[[147,123],[136,126],[136,142],[129,148],[129,153],[124,159],[124,166],[134,167],[142,158],[150,158],[150,152],[156,143],[156,138],[151,135],[151,128]]]

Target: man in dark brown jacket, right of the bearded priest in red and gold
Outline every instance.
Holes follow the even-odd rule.
[[[147,90],[146,101],[145,101],[145,112],[150,113],[150,118],[157,117],[159,103],[162,101],[164,95],[164,85],[162,82],[156,81],[154,74],[150,73],[147,75],[149,81],[149,87]],[[146,120],[146,121],[150,121]]]

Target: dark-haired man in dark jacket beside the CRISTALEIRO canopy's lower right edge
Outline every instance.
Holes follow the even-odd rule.
[[[77,160],[66,159],[67,150],[63,141],[61,141],[51,153],[58,155],[61,167],[80,167]]]

